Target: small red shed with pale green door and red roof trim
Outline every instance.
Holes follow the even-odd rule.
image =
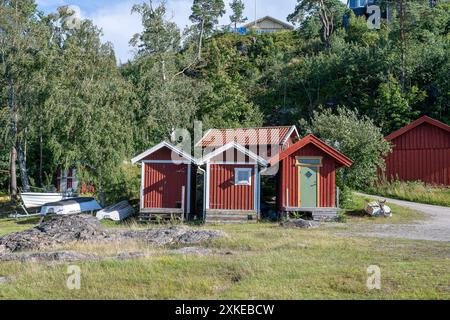
[[[352,161],[314,135],[308,135],[269,160],[278,164],[278,210],[311,212],[314,218],[334,218],[336,169]]]

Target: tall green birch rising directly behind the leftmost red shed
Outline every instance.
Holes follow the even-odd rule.
[[[135,143],[141,151],[174,129],[190,129],[206,86],[186,75],[196,59],[189,49],[181,52],[180,30],[168,21],[166,4],[153,8],[150,1],[133,10],[141,15],[143,31],[131,40],[138,51],[122,72],[134,86]]]

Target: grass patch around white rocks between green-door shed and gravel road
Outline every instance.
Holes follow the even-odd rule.
[[[365,213],[364,208],[367,203],[379,200],[373,197],[365,197],[356,194],[352,194],[351,200],[346,204],[344,208],[346,221],[349,223],[409,223],[415,220],[423,220],[425,219],[425,215],[423,213],[404,208],[392,203],[387,202],[388,205],[392,209],[392,217],[371,217]]]

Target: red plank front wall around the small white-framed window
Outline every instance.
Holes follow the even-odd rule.
[[[251,168],[252,184],[235,185],[234,169]],[[255,210],[255,169],[253,165],[211,164],[209,178],[210,210]]]

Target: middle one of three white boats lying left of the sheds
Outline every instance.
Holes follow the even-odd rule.
[[[102,207],[94,198],[72,198],[47,203],[41,207],[41,215],[47,214],[77,214],[100,210]]]

